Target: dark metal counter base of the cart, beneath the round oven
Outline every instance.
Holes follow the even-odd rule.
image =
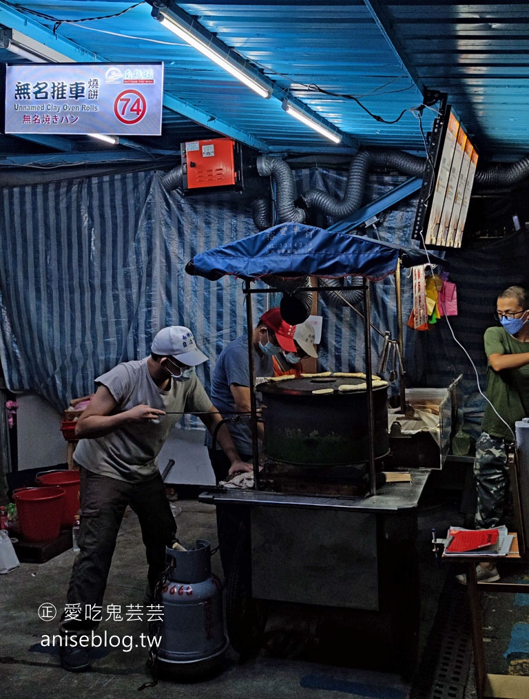
[[[232,647],[258,649],[270,601],[383,617],[396,670],[410,675],[419,637],[417,509],[430,470],[361,498],[210,489],[217,507]]]

